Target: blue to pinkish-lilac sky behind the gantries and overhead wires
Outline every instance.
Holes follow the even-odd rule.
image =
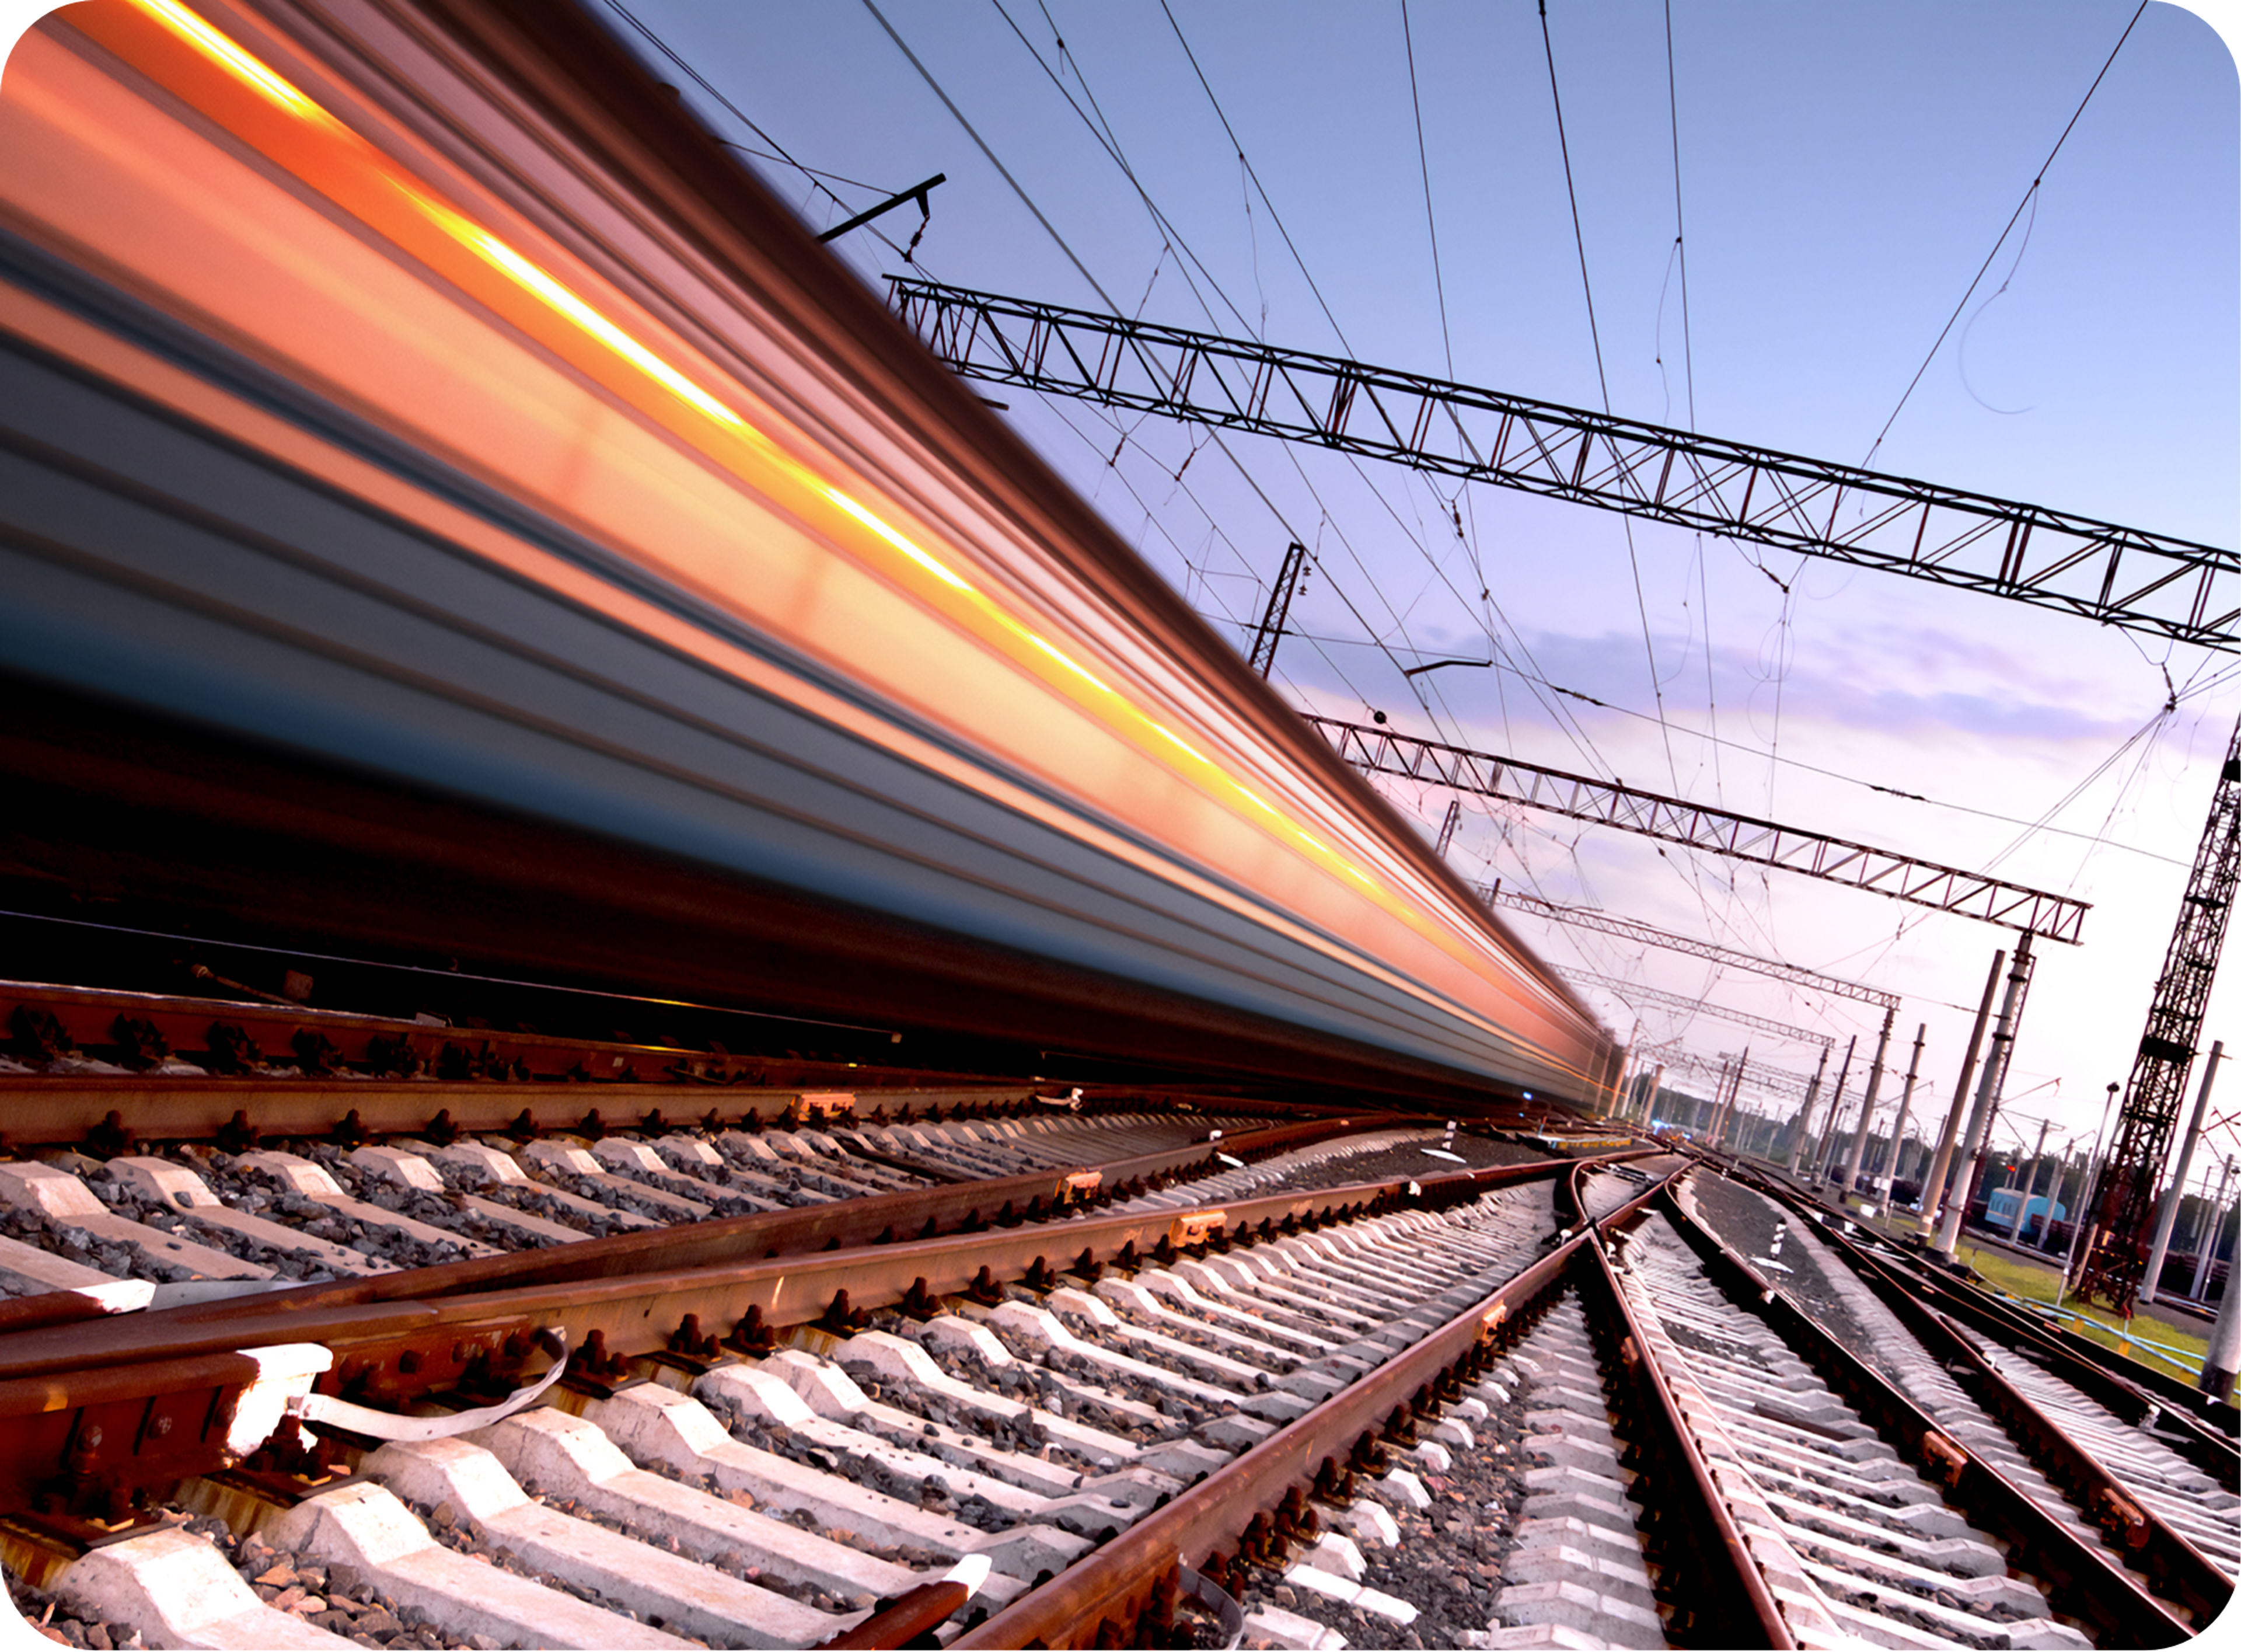
[[[1873,451],[1887,471],[2241,538],[2241,74],[2225,40],[2167,0],[2147,7],[1880,448],[2133,4],[1674,4],[1667,61],[1663,4],[1560,0],[1549,40],[1575,242],[1528,0],[1412,0],[1407,36],[1398,0],[1170,0],[1253,177],[1159,0],[878,0],[1069,258],[867,7],[627,2],[798,161],[854,179],[829,184],[843,206],[755,161],[811,224],[948,173],[919,244],[939,280],[1103,307],[1078,258],[1116,305],[1177,325],[1436,374],[1452,359],[1459,379],[1575,406],[1600,406],[1607,381],[1611,408],[1640,419],[1687,424],[1694,406],[1723,437],[1847,462]],[[1094,96],[1188,253],[1060,87],[1085,108]],[[764,146],[701,87],[686,96],[719,134]],[[883,229],[903,240],[914,220],[905,208]],[[861,231],[836,249],[867,280],[901,267]],[[1309,637],[1286,639],[1277,663],[1302,706],[1374,706],[1414,733],[1997,863],[2093,901],[2084,948],[2044,948],[2008,1089],[2017,1114],[2051,1107],[2057,1130],[2091,1130],[2104,1085],[2129,1071],[2241,713],[2241,659],[1833,563],[1761,565],[1654,525],[1636,525],[1629,549],[1605,513],[1008,399],[1026,439],[1233,637],[1284,542],[1315,547],[1295,610]],[[1504,663],[1419,677],[1419,699],[1401,666],[1450,652]],[[1445,807],[1396,800],[1428,827]],[[2051,829],[2030,829],[2042,818]],[[1990,953],[2010,939],[1522,811],[1470,807],[1454,859],[1470,876],[1903,993],[1894,1045],[1930,1022],[1934,1107]],[[1692,995],[1712,984],[1672,953],[1519,928],[1557,964]],[[1712,995],[1873,1036],[1858,1006],[1759,977]],[[1625,1036],[1631,1013],[1596,1002]],[[1645,1036],[1670,1033],[1699,1051],[1746,1040],[1710,1018],[1645,1020]],[[2228,1033],[2241,1045],[2241,966],[2212,1002],[2207,1036]],[[1764,1036],[1757,1058],[1811,1067],[1804,1047]]]

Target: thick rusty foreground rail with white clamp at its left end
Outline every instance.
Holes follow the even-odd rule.
[[[1649,1154],[1614,1154],[1634,1157]],[[260,1361],[300,1361],[309,1347],[325,1349],[307,1365],[325,1365],[309,1379],[314,1392],[385,1410],[504,1390],[522,1379],[545,1331],[560,1331],[574,1349],[571,1379],[616,1383],[650,1361],[690,1381],[735,1354],[769,1352],[773,1331],[787,1327],[822,1320],[845,1331],[870,1307],[934,1311],[941,1298],[993,1296],[999,1282],[1056,1284],[1067,1266],[1094,1278],[1105,1262],[1161,1262],[1401,1206],[1443,1208],[1573,1163],[468,1296],[334,1307],[287,1293],[300,1305],[253,1318],[215,1305],[20,1331],[0,1338],[0,1515],[85,1542],[103,1535],[90,1513],[119,1520],[148,1486],[233,1468],[244,1450],[235,1439],[242,1408],[260,1383],[271,1388]]]

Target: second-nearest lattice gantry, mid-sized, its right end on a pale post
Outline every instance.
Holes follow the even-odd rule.
[[[1620,780],[1591,780],[1562,769],[1497,758],[1490,751],[1416,740],[1392,728],[1338,722],[1336,717],[1309,715],[1307,720],[1324,733],[1340,758],[1369,773],[1524,802],[1573,820],[1593,820],[1620,832],[1681,843],[1690,850],[1849,883],[1894,901],[2003,924],[2053,941],[2075,944],[2091,910],[2084,901],[2073,901],[2066,894],[2048,894],[1981,872],[1963,872],[1820,832],[1797,832],[1773,820],[1683,802]]]

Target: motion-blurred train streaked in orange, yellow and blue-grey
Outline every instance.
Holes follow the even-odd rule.
[[[614,40],[0,72],[0,906],[1598,1101],[1609,1033]]]

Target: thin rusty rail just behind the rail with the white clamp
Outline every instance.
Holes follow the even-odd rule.
[[[793,1210],[764,1210],[744,1217],[710,1217],[706,1222],[679,1222],[661,1228],[632,1233],[610,1233],[603,1240],[578,1240],[540,1251],[509,1251],[506,1255],[477,1257],[471,1262],[441,1262],[426,1269],[399,1269],[394,1273],[370,1273],[350,1280],[320,1280],[251,1296],[233,1296],[208,1305],[182,1305],[170,1309],[141,1311],[134,1325],[190,1325],[197,1320],[224,1320],[242,1325],[271,1314],[294,1314],[303,1309],[345,1309],[372,1302],[394,1302],[406,1298],[473,1296],[480,1291],[504,1291],[518,1284],[560,1284],[574,1280],[616,1280],[650,1273],[675,1273],[679,1269],[735,1262],[744,1255],[798,1255],[802,1251],[831,1251],[883,1246],[896,1240],[934,1240],[943,1233],[970,1233],[984,1224],[1011,1226],[1015,1222],[1044,1222],[1082,1208],[1087,1199],[1109,1199],[1114,1188],[1154,1181],[1181,1170],[1215,1170],[1217,1152],[1233,1159],[1259,1159],[1286,1148],[1304,1148],[1315,1141],[1347,1134],[1349,1130],[1383,1125],[1383,1119],[1356,1123],[1354,1119],[1315,1119],[1298,1125],[1275,1125],[1239,1136],[1226,1136],[1219,1148],[1192,1141],[1159,1152],[1132,1154],[1098,1166],[1067,1166],[1033,1170],[1020,1177],[993,1177],[988,1181],[946,1181],[930,1188],[903,1188],[899,1192],[867,1192],[856,1199],[831,1199],[827,1204],[800,1206]],[[49,1300],[67,1298],[67,1300]],[[7,1336],[29,1331],[49,1322],[83,1322],[103,1318],[94,1298],[76,1291],[49,1291],[43,1296],[0,1302],[0,1349]],[[4,1365],[4,1354],[0,1354]]]

